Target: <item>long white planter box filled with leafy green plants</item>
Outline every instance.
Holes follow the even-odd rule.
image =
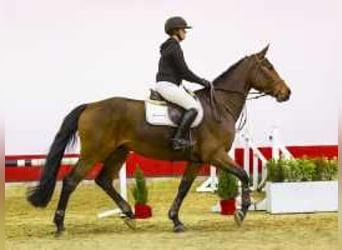
[[[337,211],[336,159],[270,160],[267,165],[267,211],[311,213]]]

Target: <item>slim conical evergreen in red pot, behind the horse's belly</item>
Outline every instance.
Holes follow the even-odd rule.
[[[143,171],[139,166],[134,172],[135,184],[132,188],[133,198],[135,200],[135,218],[149,218],[152,216],[152,208],[147,205],[148,188]]]

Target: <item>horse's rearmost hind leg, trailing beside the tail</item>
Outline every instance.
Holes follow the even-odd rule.
[[[73,170],[64,178],[61,196],[53,220],[57,227],[57,236],[64,230],[65,210],[71,193],[76,189],[77,185],[83,180],[93,166],[94,162],[84,161],[81,158],[76,163]]]

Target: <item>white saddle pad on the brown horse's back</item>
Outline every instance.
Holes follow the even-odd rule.
[[[191,127],[194,128],[198,126],[203,119],[203,108],[199,100],[197,100],[197,109],[198,115],[196,119],[191,124]],[[154,100],[146,100],[145,101],[145,113],[146,113],[146,121],[152,125],[164,125],[164,126],[172,126],[177,127],[178,125],[171,121],[168,114],[168,107],[166,102],[154,101]]]

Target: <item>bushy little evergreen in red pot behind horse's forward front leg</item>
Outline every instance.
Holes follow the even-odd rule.
[[[235,198],[239,194],[238,181],[228,171],[219,171],[217,194],[221,198],[221,214],[232,215],[236,210]]]

